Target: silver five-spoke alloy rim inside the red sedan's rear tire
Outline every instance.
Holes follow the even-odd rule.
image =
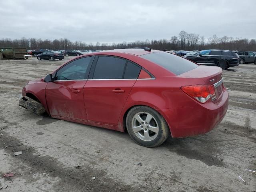
[[[132,118],[132,130],[141,140],[152,141],[158,136],[159,126],[150,113],[138,112]]]

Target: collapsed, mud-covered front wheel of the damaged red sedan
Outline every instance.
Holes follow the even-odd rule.
[[[40,102],[37,102],[28,96],[22,96],[22,98],[20,98],[19,106],[22,106],[37,115],[43,115],[46,112],[44,106]]]

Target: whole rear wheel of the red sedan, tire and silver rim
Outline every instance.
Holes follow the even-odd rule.
[[[170,136],[170,130],[164,118],[147,106],[136,106],[128,112],[126,128],[131,138],[144,147],[159,146]]]

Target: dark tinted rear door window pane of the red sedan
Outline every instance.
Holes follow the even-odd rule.
[[[99,56],[93,79],[122,79],[126,60],[111,56]]]

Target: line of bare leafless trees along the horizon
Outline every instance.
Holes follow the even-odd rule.
[[[28,50],[45,48],[49,50],[59,49],[96,49],[96,50],[110,50],[118,48],[133,48],[139,46],[146,46],[157,50],[204,50],[204,49],[224,49],[224,50],[248,50],[256,51],[256,40],[246,38],[233,38],[228,36],[217,37],[213,35],[210,38],[205,38],[199,34],[187,33],[181,31],[178,36],[172,36],[170,40],[145,40],[135,42],[122,43],[102,43],[87,44],[82,41],[72,42],[67,38],[60,38],[55,40],[36,39],[36,38],[21,38],[21,39],[2,39],[0,40],[0,48],[15,47],[27,48]]]

